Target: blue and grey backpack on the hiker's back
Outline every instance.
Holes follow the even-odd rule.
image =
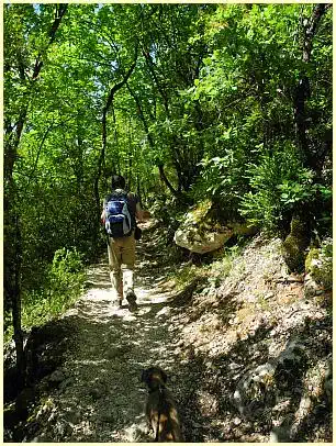
[[[132,218],[127,194],[112,194],[105,205],[105,231],[110,237],[127,237],[132,234]]]

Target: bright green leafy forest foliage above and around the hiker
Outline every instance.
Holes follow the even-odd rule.
[[[314,4],[70,3],[51,43],[55,8],[4,7],[5,145],[25,116],[15,159],[5,149],[4,167],[14,163],[15,202],[23,203],[26,302],[42,305],[57,287],[66,293],[76,272],[63,260],[51,267],[55,252],[75,247],[85,263],[100,252],[94,185],[102,200],[112,172],[156,210],[170,243],[179,215],[204,199],[222,216],[270,231],[314,202],[312,221],[329,230],[332,8],[309,64],[303,24]],[[102,153],[102,111],[135,53],[109,109]],[[311,86],[306,149],[322,166],[307,167],[298,149],[293,98],[302,74]]]

